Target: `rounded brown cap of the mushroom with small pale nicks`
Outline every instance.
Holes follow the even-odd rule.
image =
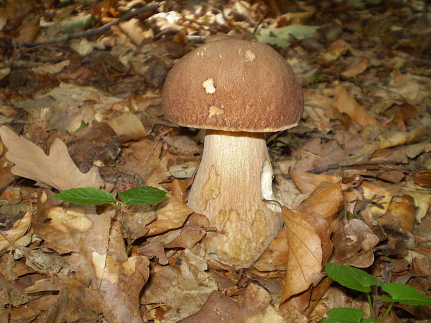
[[[296,126],[303,110],[298,78],[273,48],[228,39],[178,60],[166,78],[162,108],[181,126],[270,132]]]

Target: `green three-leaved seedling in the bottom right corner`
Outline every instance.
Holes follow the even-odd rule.
[[[375,276],[371,276],[355,267],[345,265],[337,265],[334,263],[327,263],[325,265],[325,272],[330,279],[336,281],[352,290],[366,293],[368,305],[370,306],[371,318],[362,320],[365,313],[356,308],[333,308],[326,313],[327,318],[322,323],[382,323],[391,311],[393,304],[407,304],[407,305],[429,305],[431,299],[422,295],[409,285],[401,283],[382,283]],[[389,297],[381,296],[380,300],[389,303],[389,306],[384,312],[380,321],[374,320],[373,305],[371,302],[371,287],[378,286],[386,292]]]

